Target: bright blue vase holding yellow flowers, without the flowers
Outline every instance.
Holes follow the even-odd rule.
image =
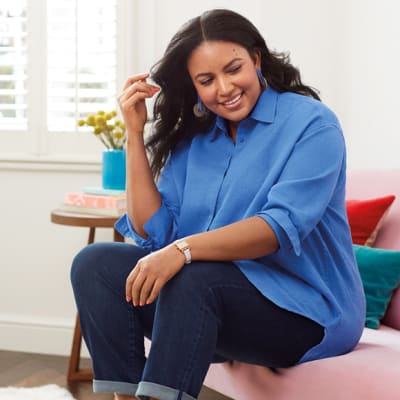
[[[125,190],[125,150],[107,149],[103,151],[102,176],[103,189]]]

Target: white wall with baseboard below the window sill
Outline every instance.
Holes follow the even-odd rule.
[[[98,186],[99,167],[49,170],[46,164],[2,164],[0,182],[0,348],[67,353],[74,300],[69,267],[88,230],[55,225],[50,211],[65,191]],[[63,170],[66,169],[66,170]],[[7,189],[4,189],[7,188]],[[110,232],[108,232],[110,231]],[[101,229],[98,239],[111,240]]]

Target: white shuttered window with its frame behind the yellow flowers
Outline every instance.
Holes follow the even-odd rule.
[[[134,71],[134,2],[2,0],[0,157],[98,153],[78,130],[88,113],[116,108]]]

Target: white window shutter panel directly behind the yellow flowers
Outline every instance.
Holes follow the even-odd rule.
[[[116,1],[48,1],[47,20],[48,129],[75,131],[115,108]]]

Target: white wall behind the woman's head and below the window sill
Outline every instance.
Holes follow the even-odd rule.
[[[176,29],[208,8],[249,17],[271,48],[290,50],[304,81],[338,114],[351,168],[400,168],[400,3],[396,0],[138,0],[137,69]],[[100,184],[96,164],[0,160],[0,348],[68,354],[75,307],[69,283],[87,230],[50,223],[65,191]],[[111,240],[102,230],[99,239]]]

